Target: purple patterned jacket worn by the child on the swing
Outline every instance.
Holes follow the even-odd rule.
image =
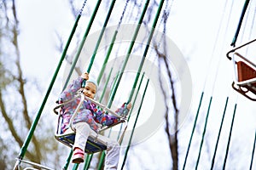
[[[73,99],[77,91],[81,88],[81,84],[84,81],[82,77],[74,80],[60,95],[59,104]],[[66,105],[61,106],[61,115],[63,117],[63,122],[61,126],[61,130],[63,133],[67,130],[70,118],[73,115],[73,112],[76,110],[77,105],[79,105],[80,98],[74,99],[72,102],[67,103]],[[115,111],[118,115],[121,115],[125,111],[125,104],[122,105],[117,111]],[[74,118],[73,123],[77,122],[87,122],[90,125],[90,128],[94,131],[98,131],[101,125],[109,126],[115,122],[118,122],[119,118],[116,116],[108,115],[103,113],[101,110],[96,108],[96,105],[91,103],[90,101],[84,101],[84,105],[81,105],[78,115]]]

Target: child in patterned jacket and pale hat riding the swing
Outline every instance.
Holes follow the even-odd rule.
[[[86,97],[94,99],[96,94],[97,83],[96,81],[89,79],[89,74],[84,73],[81,77],[74,80],[66,90],[64,90],[59,98],[59,103],[63,103],[69,99],[73,99],[79,89],[81,89],[82,82],[86,80],[83,93]],[[73,100],[67,105],[61,107],[63,116],[63,123],[61,129],[63,133],[67,130],[73,112],[79,104],[80,98]],[[122,105],[117,111],[119,115],[127,114],[131,109],[131,104],[128,104],[125,108],[125,104]],[[102,111],[96,109],[96,105],[90,101],[84,101],[84,105],[81,105],[77,116],[73,119],[73,127],[76,131],[76,136],[73,144],[73,163],[84,162],[84,148],[88,136],[90,133],[97,133],[99,125],[112,125],[114,122],[118,122],[118,117],[107,115]],[[100,134],[98,134],[100,135]],[[105,161],[106,169],[117,169],[119,162],[119,144],[105,136],[102,138],[107,141],[107,156]]]

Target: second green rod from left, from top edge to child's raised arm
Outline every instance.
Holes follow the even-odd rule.
[[[92,26],[92,23],[93,23],[95,17],[96,17],[96,13],[97,13],[98,8],[99,8],[99,6],[100,6],[101,3],[102,3],[102,0],[98,0],[98,2],[96,3],[96,7],[94,8],[94,11],[93,11],[93,13],[92,13],[92,15],[91,15],[91,17],[90,17],[90,21],[89,21],[89,23],[88,23],[88,26],[87,26],[87,28],[86,28],[86,31],[84,32],[84,37],[82,38],[82,41],[81,41],[80,44],[79,44],[78,52],[76,53],[75,57],[73,58],[73,62],[72,62],[72,65],[71,65],[71,69],[70,69],[70,71],[69,71],[69,73],[68,73],[67,80],[66,80],[66,82],[65,82],[65,85],[64,85],[64,87],[63,87],[63,90],[67,87],[67,83],[69,82],[70,77],[72,76],[73,70],[74,70],[74,68],[75,68],[75,65],[77,64],[77,62],[78,62],[78,60],[79,60],[79,56],[80,56],[81,51],[82,51],[82,49],[83,49],[83,47],[84,47],[84,42],[85,42],[85,40],[86,40],[86,38],[87,38],[87,36],[88,36],[88,34],[89,34],[90,28],[91,28],[91,26]]]

